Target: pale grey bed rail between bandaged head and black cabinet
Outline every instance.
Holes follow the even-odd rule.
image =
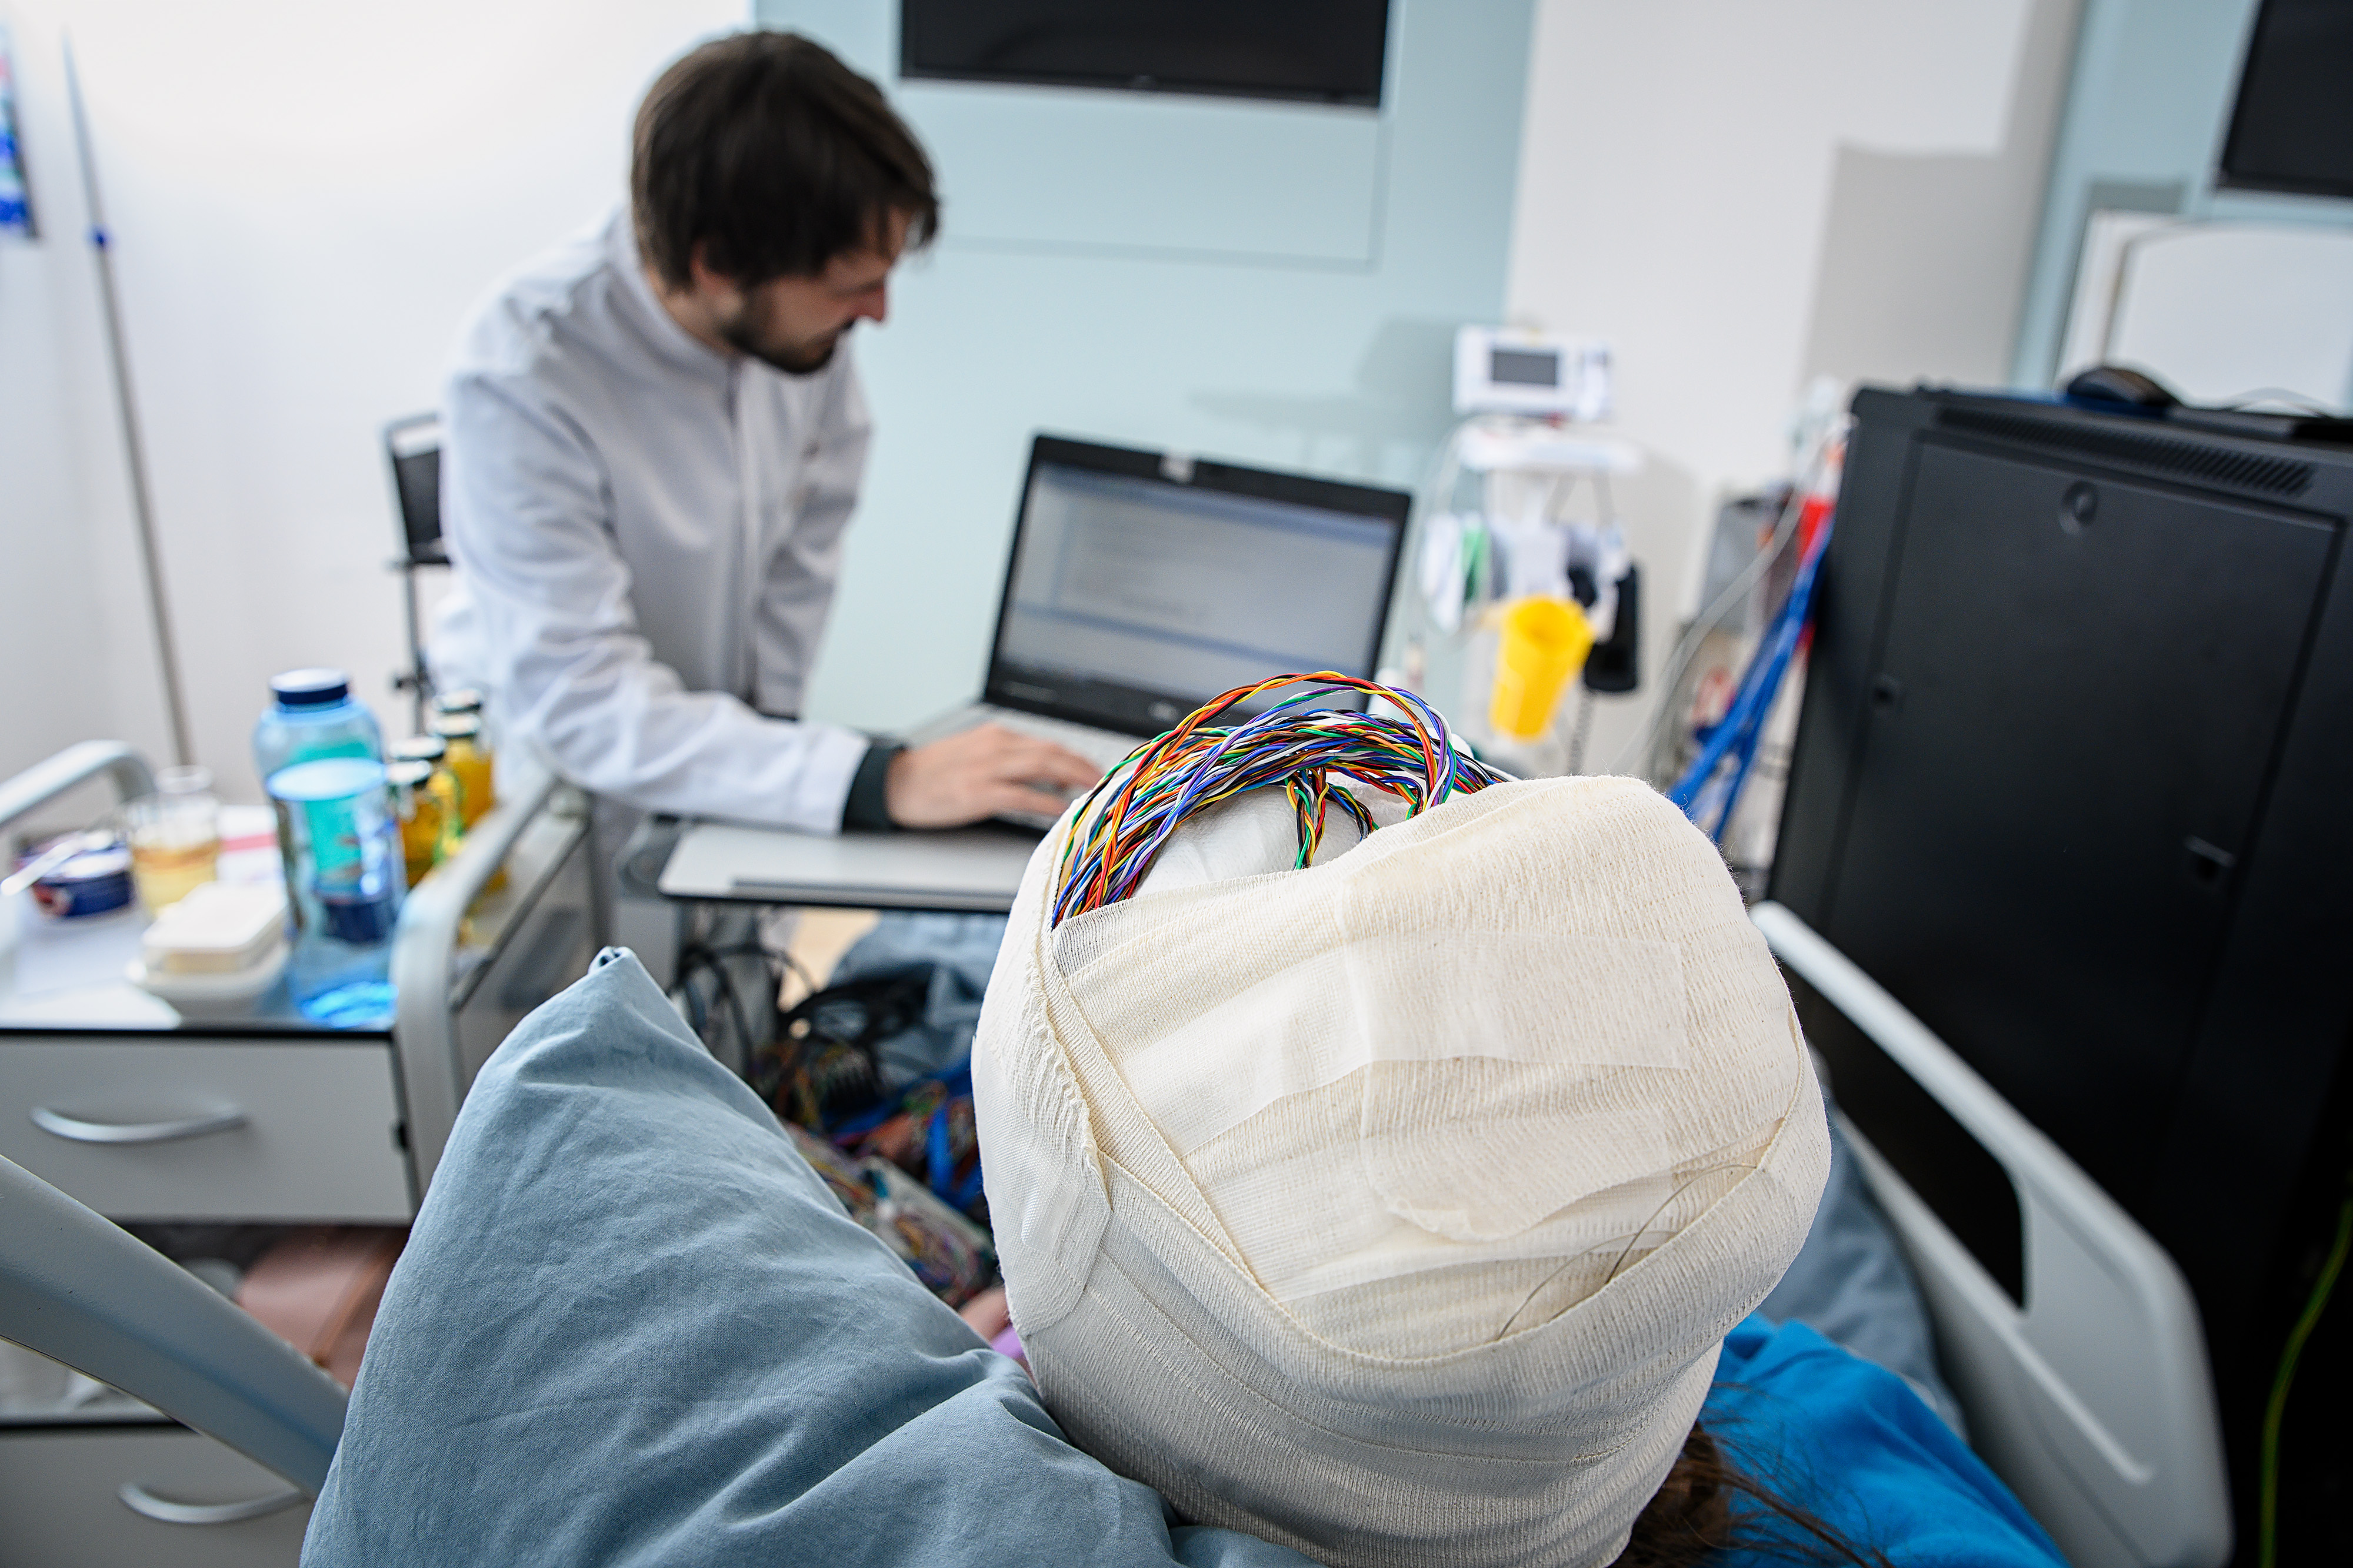
[[[2075,1568],[2214,1568],[2231,1493],[2205,1331],[2181,1269],[2099,1182],[1852,959],[1777,903],[1751,910],[1781,966],[1925,1091],[2007,1178],[2012,1295],[1889,1152],[1840,1112],[1920,1276],[1969,1443]],[[1833,1063],[1835,1070],[1835,1063]],[[1845,1095],[1842,1095],[1845,1100]]]

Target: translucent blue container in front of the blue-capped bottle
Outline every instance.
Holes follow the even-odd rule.
[[[266,785],[294,910],[294,1006],[336,1027],[384,1027],[393,1020],[393,924],[407,891],[384,764],[318,757],[278,769]]]

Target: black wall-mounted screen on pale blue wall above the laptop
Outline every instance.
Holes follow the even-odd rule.
[[[1388,0],[901,0],[899,75],[1381,106]]]

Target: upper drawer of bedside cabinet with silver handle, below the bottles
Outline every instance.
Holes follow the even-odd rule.
[[[414,1213],[384,1041],[0,1041],[0,1154],[113,1220]]]

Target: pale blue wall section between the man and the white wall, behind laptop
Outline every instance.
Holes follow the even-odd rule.
[[[1504,308],[1529,5],[1398,0],[1374,118],[904,85],[892,0],[762,0],[762,21],[812,33],[901,101],[946,200],[944,237],[892,284],[889,324],[856,343],[875,447],[807,712],[906,726],[979,691],[1035,430],[1409,489],[1454,421],[1454,329]],[[1094,179],[1026,153],[1078,134],[1075,115]],[[1301,242],[1289,212],[1287,186],[1358,174],[1346,146],[1299,136],[1320,115],[1337,141],[1369,129],[1379,148],[1360,256]],[[1252,132],[1285,181],[1235,174]],[[1005,169],[1038,174],[1021,200]],[[1224,254],[1094,214],[1106,179],[1224,209],[1198,230]]]

